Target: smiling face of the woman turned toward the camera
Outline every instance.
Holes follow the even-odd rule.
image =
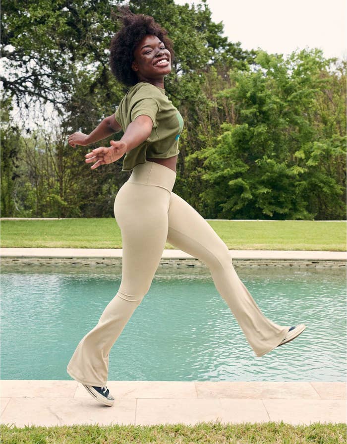
[[[171,72],[170,51],[158,37],[146,35],[134,51],[131,68],[140,81],[164,78]]]

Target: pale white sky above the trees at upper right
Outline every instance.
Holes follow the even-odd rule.
[[[199,1],[175,0],[178,4]],[[243,49],[289,54],[320,48],[325,57],[347,57],[346,0],[207,0],[215,22]]]

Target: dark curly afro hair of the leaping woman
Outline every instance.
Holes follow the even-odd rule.
[[[128,6],[118,7],[118,11],[123,26],[111,40],[110,66],[117,80],[126,86],[132,86],[138,79],[131,64],[136,46],[143,37],[147,34],[158,37],[173,59],[172,42],[167,37],[167,31],[150,15],[134,14]]]

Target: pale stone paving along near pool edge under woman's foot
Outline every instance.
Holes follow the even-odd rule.
[[[346,423],[345,382],[108,381],[112,407],[77,381],[0,381],[2,424]]]

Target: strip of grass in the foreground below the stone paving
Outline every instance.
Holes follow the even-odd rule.
[[[0,426],[2,444],[339,444],[346,443],[346,424],[283,422],[257,424],[199,423],[159,426]]]

